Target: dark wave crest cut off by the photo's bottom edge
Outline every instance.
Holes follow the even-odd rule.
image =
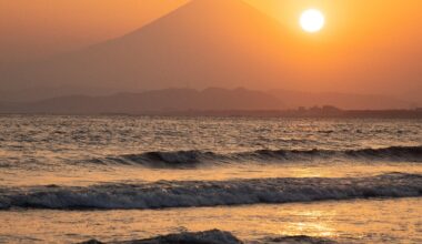
[[[102,242],[97,240],[90,240],[82,242],[80,244],[100,244]],[[204,232],[183,232],[178,234],[160,235],[152,238],[144,240],[133,240],[124,242],[113,242],[113,243],[124,243],[124,244],[170,244],[170,243],[184,243],[184,244],[241,244],[243,243],[237,236],[230,232],[224,232],[220,230],[211,230]],[[307,235],[298,236],[279,236],[279,237],[268,237],[262,241],[255,241],[253,243],[307,243],[307,244],[334,244],[335,242],[328,238],[311,237]]]

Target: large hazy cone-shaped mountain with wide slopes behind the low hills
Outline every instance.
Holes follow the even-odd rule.
[[[389,92],[422,103],[421,75],[414,75],[420,69],[413,68],[418,62],[409,70],[392,72],[401,73],[400,77],[390,75],[382,65],[371,67],[368,72],[360,62],[351,62],[349,52],[343,53],[340,48],[332,50],[334,47],[316,37],[304,39],[297,34],[242,0],[192,0],[125,35],[49,60],[1,69],[0,90],[3,92],[0,92],[0,99],[30,101],[69,94],[243,87],[254,90]],[[380,52],[364,50],[353,53],[376,63],[382,57]],[[325,57],[338,57],[341,65],[333,68],[335,63]],[[395,69],[394,65],[390,68]],[[13,93],[11,90],[27,92]],[[344,108],[405,106],[401,101],[391,102],[392,99],[381,96],[278,93],[271,92],[291,106],[313,103]],[[353,105],[353,100],[360,103]]]

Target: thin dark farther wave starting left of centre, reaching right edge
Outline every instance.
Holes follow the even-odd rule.
[[[150,167],[191,167],[200,164],[231,162],[278,162],[351,159],[366,161],[422,162],[422,146],[390,146],[360,150],[257,150],[252,152],[214,153],[207,151],[145,152],[89,160],[102,164],[141,164]]]

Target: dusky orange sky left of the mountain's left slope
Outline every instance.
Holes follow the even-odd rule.
[[[0,61],[33,60],[132,31],[185,0],[0,0]]]

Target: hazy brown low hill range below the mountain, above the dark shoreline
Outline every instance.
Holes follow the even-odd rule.
[[[175,111],[270,111],[333,105],[343,110],[410,109],[383,95],[255,91],[243,88],[163,89],[110,95],[62,95],[37,101],[2,101],[0,113],[148,113]]]

